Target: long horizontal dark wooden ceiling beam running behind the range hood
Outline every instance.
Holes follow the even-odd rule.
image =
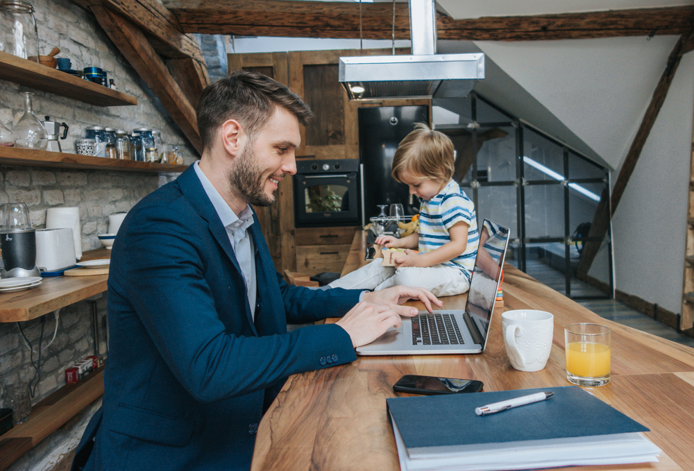
[[[359,39],[359,3],[164,0],[164,6],[186,33]],[[477,19],[452,19],[437,13],[437,37],[518,41],[681,35],[693,21],[694,6]],[[362,3],[361,23],[364,39],[391,39],[392,4]],[[395,37],[407,40],[409,36],[409,7],[396,3]]]

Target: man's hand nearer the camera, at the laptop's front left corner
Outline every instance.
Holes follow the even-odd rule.
[[[354,348],[371,343],[390,327],[398,328],[402,324],[400,315],[391,307],[363,301],[337,321],[337,325],[349,334]]]

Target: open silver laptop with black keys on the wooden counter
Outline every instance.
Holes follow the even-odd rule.
[[[482,353],[489,336],[491,315],[501,279],[509,228],[484,220],[480,230],[475,268],[465,309],[419,311],[403,318],[403,325],[391,327],[368,345],[357,348],[359,355],[433,355]]]

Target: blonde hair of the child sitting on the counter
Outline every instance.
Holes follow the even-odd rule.
[[[434,131],[425,123],[416,123],[393,155],[391,175],[400,182],[403,173],[412,177],[447,181],[455,171],[453,143],[440,131]]]

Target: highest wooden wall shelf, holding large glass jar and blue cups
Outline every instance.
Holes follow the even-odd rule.
[[[0,78],[97,106],[137,105],[135,96],[0,51]]]

